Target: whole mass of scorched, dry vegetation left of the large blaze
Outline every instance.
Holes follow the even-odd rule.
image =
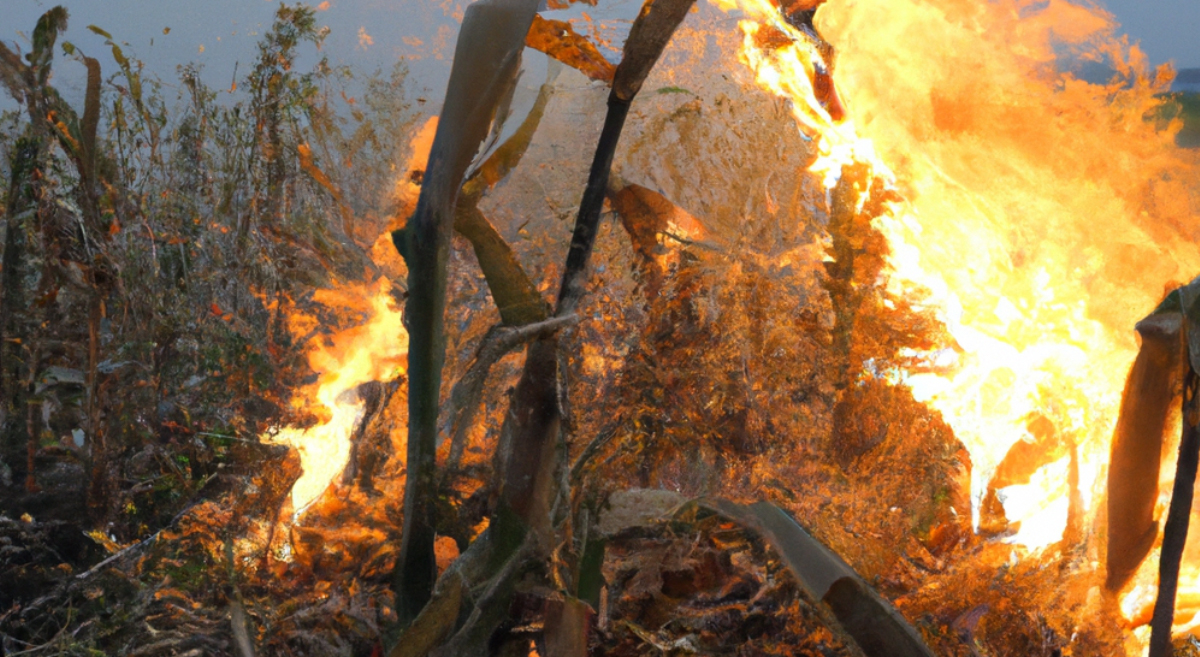
[[[299,70],[302,5],[229,91],[62,43],[61,8],[0,43],[0,655],[1117,653],[1086,537],[1008,567],[972,531],[898,376],[954,344],[887,285],[884,186],[827,195],[775,101],[655,78],[691,2],[617,65],[480,5],[413,170],[404,68]],[[526,44],[550,73],[509,116]],[[49,72],[80,64],[78,108]],[[408,369],[298,522],[262,436],[317,422],[306,351],[365,319],[318,290],[379,278]],[[814,585],[756,501],[850,574]]]

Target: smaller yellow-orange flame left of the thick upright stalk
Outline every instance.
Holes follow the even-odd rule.
[[[308,352],[308,364],[318,380],[300,391],[293,404],[316,412],[322,422],[308,428],[287,427],[264,436],[300,453],[304,474],[292,488],[292,507],[296,513],[320,496],[346,468],[350,436],[362,415],[362,402],[355,390],[368,381],[403,374],[408,354],[408,333],[403,330],[402,313],[394,307],[386,277],[373,285],[322,290],[314,300],[330,307],[360,307],[367,319],[318,340]],[[312,321],[299,314],[289,319],[294,332],[302,332],[307,326],[301,325]]]

